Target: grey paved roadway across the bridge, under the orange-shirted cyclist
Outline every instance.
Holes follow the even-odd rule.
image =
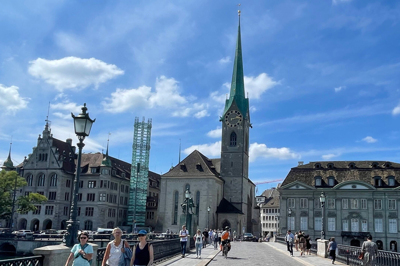
[[[273,266],[304,266],[286,254],[274,250],[264,243],[236,242],[228,253],[228,259],[220,252],[209,266],[240,266],[240,265],[273,265]]]

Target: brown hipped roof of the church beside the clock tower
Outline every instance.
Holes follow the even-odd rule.
[[[198,150],[194,150],[178,165],[170,169],[162,176],[184,177],[184,176],[220,176],[220,159],[209,159]]]

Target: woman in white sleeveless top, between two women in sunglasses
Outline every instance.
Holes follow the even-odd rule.
[[[112,230],[114,240],[108,242],[106,253],[104,254],[102,266],[118,266],[122,253],[125,252],[125,248],[129,249],[127,241],[122,240],[122,230],[118,227]]]

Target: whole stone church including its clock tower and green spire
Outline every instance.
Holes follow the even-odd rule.
[[[222,229],[230,226],[232,232],[254,232],[258,235],[259,210],[254,198],[255,185],[248,178],[249,129],[252,125],[249,102],[244,91],[240,20],[232,85],[220,121],[220,159],[209,159],[199,151],[194,151],[162,175],[156,230],[180,230],[180,204],[184,201],[186,188],[189,188],[198,206],[194,208],[197,217],[195,228]]]

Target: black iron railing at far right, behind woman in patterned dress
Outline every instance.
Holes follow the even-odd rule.
[[[347,265],[360,266],[362,260],[358,258],[361,254],[361,248],[355,246],[338,245],[336,260]],[[376,266],[399,266],[400,253],[378,250],[376,256]]]

